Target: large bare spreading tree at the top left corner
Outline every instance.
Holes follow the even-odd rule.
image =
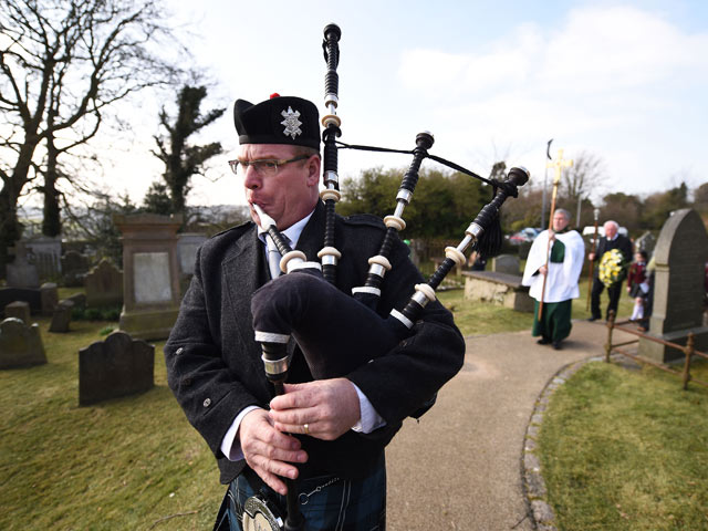
[[[173,81],[157,52],[163,39],[174,43],[164,20],[159,0],[0,2],[0,273],[21,236],[27,185],[44,176],[56,231],[59,157],[87,143],[116,102]]]

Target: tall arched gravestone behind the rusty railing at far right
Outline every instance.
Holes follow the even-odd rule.
[[[676,210],[659,233],[654,249],[654,306],[648,335],[686,344],[693,332],[696,350],[708,351],[708,327],[704,325],[705,264],[708,233],[695,210]],[[657,362],[684,358],[683,352],[639,339],[639,355]]]

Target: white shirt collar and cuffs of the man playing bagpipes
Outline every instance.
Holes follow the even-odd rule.
[[[300,235],[302,233],[302,229],[305,228],[308,221],[314,214],[314,210],[310,212],[308,216],[302,218],[296,223],[292,225],[290,228],[282,231],[283,236],[287,236],[288,239],[292,242],[292,248],[294,249],[298,246],[298,240],[300,240]],[[266,231],[258,228],[258,238],[261,240],[264,247],[266,258],[268,258],[268,248],[266,246]],[[371,434],[373,430],[384,426],[386,421],[378,415],[372,403],[366,398],[366,395],[362,393],[356,384],[352,382],[354,389],[356,391],[356,396],[358,397],[358,405],[361,417],[358,421],[352,427],[352,430],[360,431],[363,434]],[[231,427],[228,429],[223,439],[221,440],[221,452],[227,456],[227,458],[231,461],[240,461],[243,459],[243,452],[241,451],[241,445],[239,439],[237,438],[239,426],[241,425],[241,420],[243,417],[248,415],[253,409],[260,409],[258,406],[248,406],[241,409],[241,412],[236,416],[233,423],[231,423]]]

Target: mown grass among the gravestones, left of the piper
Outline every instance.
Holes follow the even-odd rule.
[[[0,529],[210,529],[223,488],[211,452],[166,386],[79,407],[77,352],[117,323],[72,322],[49,334],[49,363],[0,372]]]

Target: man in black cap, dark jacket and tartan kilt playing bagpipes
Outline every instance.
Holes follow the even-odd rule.
[[[230,164],[253,221],[201,247],[165,345],[169,386],[215,454],[221,482],[229,483],[220,529],[240,530],[249,503],[282,512],[293,485],[304,516],[300,529],[384,529],[384,448],[403,420],[459,371],[464,340],[450,312],[434,301],[393,348],[342,377],[316,381],[291,340],[288,383],[274,397],[254,339],[251,298],[278,271],[269,272],[273,241],[253,205],[274,220],[292,249],[308,260],[317,256],[324,236],[319,116],[314,104],[298,97],[257,105],[239,100],[235,124],[241,147]],[[350,295],[361,285],[385,230],[374,216],[336,217],[339,291]],[[397,238],[388,259],[375,310],[382,319],[403,308],[423,281]],[[324,334],[347,313],[327,311],[313,321]],[[345,346],[334,340],[329,351],[336,356]]]

